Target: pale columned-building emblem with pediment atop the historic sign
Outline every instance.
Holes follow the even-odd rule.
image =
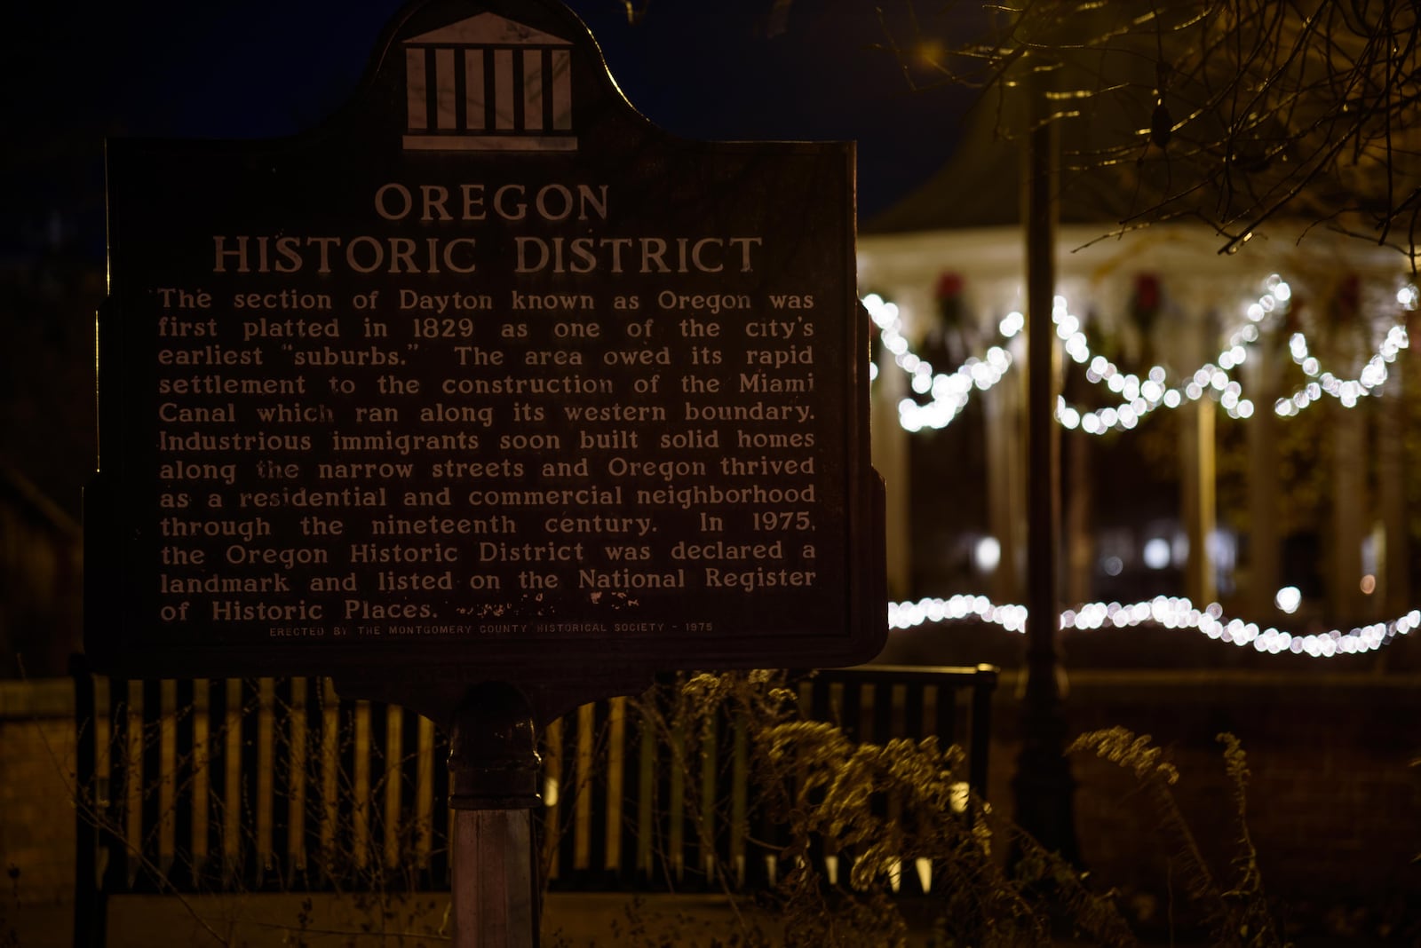
[[[493,13],[405,40],[405,148],[576,150],[571,47]]]

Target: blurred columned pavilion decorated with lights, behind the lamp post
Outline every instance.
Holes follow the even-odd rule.
[[[1025,602],[1027,481],[1044,473],[1026,470],[1020,143],[989,138],[858,244],[898,600]],[[1113,233],[1123,214],[1098,177],[1061,189],[1063,606],[1216,603],[1259,650],[1405,633],[1421,580],[1405,258],[1307,221],[1221,254],[1204,226]]]

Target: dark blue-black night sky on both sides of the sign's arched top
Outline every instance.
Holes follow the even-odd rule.
[[[647,4],[647,0],[638,0]],[[102,254],[107,135],[264,138],[331,114],[398,0],[24,4],[0,54],[3,244]],[[472,4],[476,6],[476,4]],[[870,0],[570,4],[628,99],[701,139],[858,142],[860,220],[936,170],[971,92],[914,91]],[[890,16],[905,35],[902,16]],[[931,24],[929,24],[931,26]],[[938,28],[946,28],[936,24]]]

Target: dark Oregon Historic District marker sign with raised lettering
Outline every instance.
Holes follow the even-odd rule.
[[[433,0],[324,126],[108,182],[101,667],[877,651],[851,146],[675,139],[561,6]]]

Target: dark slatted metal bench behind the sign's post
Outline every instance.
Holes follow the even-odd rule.
[[[986,795],[996,668],[793,673],[809,720],[858,741],[938,735]],[[749,721],[672,683],[544,728],[543,873],[553,888],[773,884],[776,826]],[[324,678],[111,680],[75,668],[80,913],[121,893],[441,890],[445,735]],[[833,874],[833,853],[828,860]],[[931,888],[931,867],[902,874]]]

